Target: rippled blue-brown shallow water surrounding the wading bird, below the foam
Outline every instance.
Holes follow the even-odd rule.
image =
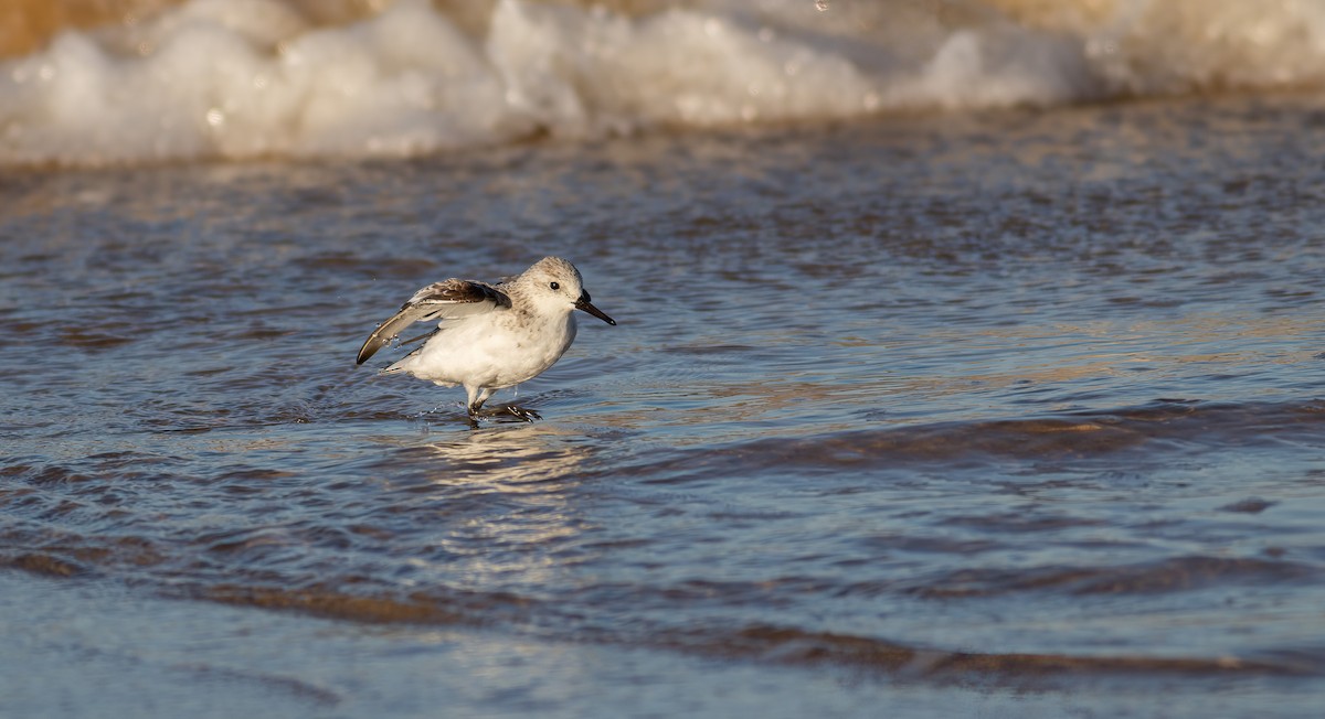
[[[4,661],[318,687],[272,714],[1302,715],[1322,111],[8,172],[0,561],[44,576],[0,580],[90,620]],[[543,254],[620,326],[519,388],[542,421],[354,365],[419,286]]]

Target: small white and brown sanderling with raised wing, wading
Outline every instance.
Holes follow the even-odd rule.
[[[542,375],[575,340],[575,310],[616,320],[590,303],[579,270],[560,257],[545,257],[519,277],[497,285],[444,279],[415,293],[359,348],[363,364],[415,322],[439,320],[425,342],[383,372],[407,372],[443,387],[464,385],[469,416],[493,392]],[[404,344],[408,344],[407,340]],[[510,408],[521,418],[538,414]]]

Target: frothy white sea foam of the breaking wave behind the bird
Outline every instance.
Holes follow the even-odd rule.
[[[0,163],[408,156],[1325,75],[1320,3],[1044,7],[497,0],[462,23],[398,0],[319,25],[281,0],[191,0],[0,65]]]

